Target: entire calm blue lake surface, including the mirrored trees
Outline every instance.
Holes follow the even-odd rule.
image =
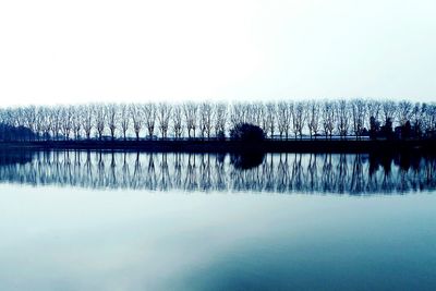
[[[0,290],[435,290],[433,158],[0,155]]]

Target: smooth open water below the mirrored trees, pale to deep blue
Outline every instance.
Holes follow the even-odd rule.
[[[0,185],[1,290],[431,290],[436,195]]]

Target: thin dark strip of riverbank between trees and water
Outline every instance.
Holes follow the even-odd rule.
[[[436,141],[370,141],[370,140],[288,140],[256,143],[235,141],[39,141],[0,142],[2,149],[83,149],[83,150],[140,150],[180,153],[435,153]]]

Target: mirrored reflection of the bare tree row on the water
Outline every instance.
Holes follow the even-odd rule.
[[[2,161],[3,159],[0,159]],[[436,159],[346,154],[268,154],[241,170],[214,154],[36,151],[0,165],[0,181],[90,189],[383,194],[436,187]]]

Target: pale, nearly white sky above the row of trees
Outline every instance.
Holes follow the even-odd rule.
[[[1,1],[0,106],[436,101],[434,0]]]

